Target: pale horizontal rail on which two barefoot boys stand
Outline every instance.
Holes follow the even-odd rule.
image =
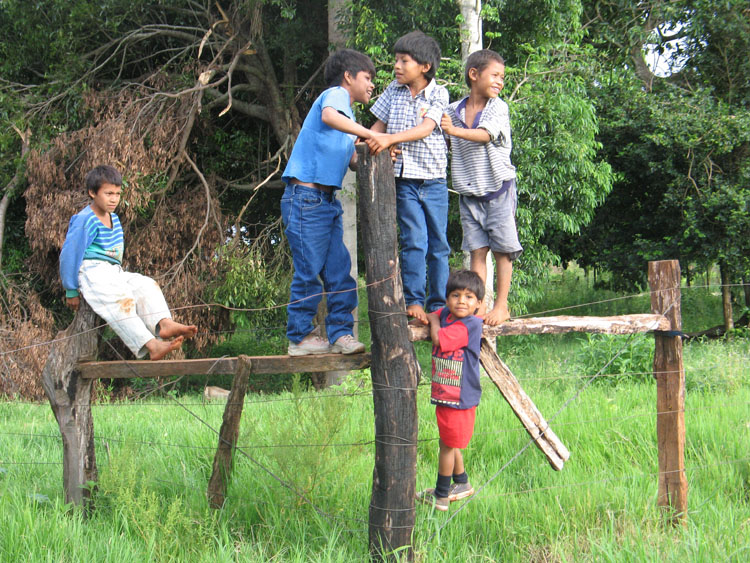
[[[565,332],[591,332],[598,334],[634,334],[653,330],[669,330],[669,320],[663,315],[638,314],[615,317],[533,317],[513,319],[497,326],[485,326],[483,336],[511,336],[520,334],[562,334]],[[428,327],[410,326],[411,340],[429,340]]]

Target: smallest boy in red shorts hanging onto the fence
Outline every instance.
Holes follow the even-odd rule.
[[[434,344],[431,402],[436,405],[440,456],[435,488],[418,493],[417,499],[443,512],[452,501],[474,494],[461,450],[469,445],[474,433],[476,407],[482,394],[482,319],[476,316],[482,299],[484,282],[479,275],[458,270],[448,277],[446,306],[427,315]]]

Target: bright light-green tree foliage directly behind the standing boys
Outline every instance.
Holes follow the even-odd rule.
[[[535,1],[529,6],[484,2],[485,45],[506,60],[503,98],[513,127],[513,163],[518,171],[518,229],[525,252],[514,272],[514,310],[543,290],[547,266],[559,261],[550,231],[578,233],[612,185],[609,165],[598,155],[598,118],[591,102],[590,47],[583,45],[576,0]],[[349,13],[357,48],[381,63],[381,87],[392,80],[389,46],[419,28],[441,43],[437,80],[455,100],[465,95],[455,2],[426,4],[356,2]],[[460,245],[457,213],[449,238]]]

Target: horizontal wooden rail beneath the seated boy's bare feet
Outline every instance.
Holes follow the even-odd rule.
[[[362,369],[370,365],[370,354],[321,354],[318,356],[248,356],[253,374],[303,373],[333,369]],[[201,358],[195,360],[124,360],[78,364],[84,379],[128,379],[134,377],[171,377],[179,375],[232,374],[237,358]]]

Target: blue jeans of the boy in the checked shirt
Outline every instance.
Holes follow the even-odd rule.
[[[396,216],[406,306],[429,313],[445,305],[448,283],[448,186],[444,179],[396,178]],[[425,301],[425,278],[430,295]]]

